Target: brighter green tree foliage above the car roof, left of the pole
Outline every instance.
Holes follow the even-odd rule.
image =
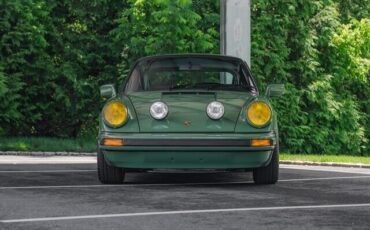
[[[201,16],[192,9],[191,1],[129,2],[131,7],[123,12],[115,31],[116,39],[126,42],[129,63],[147,55],[214,49],[212,36],[199,28]]]

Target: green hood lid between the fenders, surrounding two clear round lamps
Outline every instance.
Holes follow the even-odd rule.
[[[248,92],[231,91],[170,91],[135,92],[127,95],[135,109],[140,132],[205,133],[234,132],[241,109],[252,97]],[[163,120],[155,120],[149,113],[157,101],[167,104],[169,113]],[[207,116],[207,105],[221,102],[225,114],[220,120]]]

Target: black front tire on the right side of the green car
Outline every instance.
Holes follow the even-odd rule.
[[[275,148],[271,162],[253,170],[253,180],[256,184],[275,184],[279,179],[279,150]]]

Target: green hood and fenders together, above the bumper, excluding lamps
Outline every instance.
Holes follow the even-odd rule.
[[[187,91],[189,94],[166,94],[161,92],[138,92],[131,95],[119,95],[111,100],[121,100],[128,108],[129,120],[124,126],[111,128],[100,115],[99,132],[110,133],[265,133],[275,130],[276,114],[273,111],[271,122],[262,128],[251,126],[246,118],[248,105],[255,100],[271,104],[263,96],[254,96],[245,92]],[[109,101],[111,101],[109,100]],[[206,107],[211,101],[224,104],[225,115],[220,120],[212,120],[206,114]],[[108,102],[109,102],[108,101]],[[169,107],[168,116],[161,121],[150,116],[150,105],[163,101]],[[107,102],[107,103],[108,103]],[[272,106],[271,106],[272,108]],[[190,121],[190,126],[184,125]]]

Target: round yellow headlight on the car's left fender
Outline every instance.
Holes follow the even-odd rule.
[[[120,101],[109,102],[103,109],[103,118],[109,126],[123,125],[128,118],[127,107]]]

